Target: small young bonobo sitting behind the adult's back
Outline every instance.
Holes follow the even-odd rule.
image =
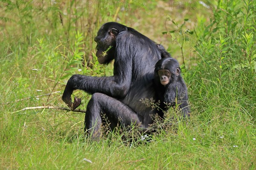
[[[160,99],[160,108],[166,104],[171,104],[173,107],[178,106],[183,117],[189,117],[187,87],[180,75],[178,61],[172,57],[160,59],[155,65],[154,73],[154,83]],[[168,108],[165,111],[167,110]]]

